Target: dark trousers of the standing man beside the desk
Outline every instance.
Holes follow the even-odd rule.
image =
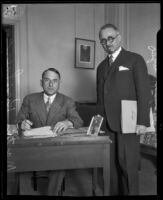
[[[111,195],[139,193],[139,136],[108,130],[112,140],[110,149]]]

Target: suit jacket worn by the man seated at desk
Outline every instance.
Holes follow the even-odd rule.
[[[17,123],[29,119],[33,122],[33,128],[53,126],[59,121],[68,119],[75,128],[82,126],[83,121],[78,115],[74,101],[60,93],[57,93],[49,113],[46,111],[43,92],[27,95],[17,115]]]

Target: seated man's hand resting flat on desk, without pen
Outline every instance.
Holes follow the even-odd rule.
[[[52,128],[52,131],[56,133],[57,135],[62,135],[63,131],[72,127],[73,127],[72,122],[65,120],[65,121],[57,122],[54,128]]]

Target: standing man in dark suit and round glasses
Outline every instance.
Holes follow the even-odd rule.
[[[142,56],[121,47],[116,26],[101,27],[107,57],[97,69],[97,103],[104,106],[111,144],[111,195],[138,195],[139,135],[150,125],[150,85]],[[137,101],[136,133],[121,131],[121,100]]]

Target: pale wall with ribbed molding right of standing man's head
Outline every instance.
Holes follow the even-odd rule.
[[[122,45],[141,54],[148,73],[156,76],[157,33],[160,30],[159,3],[112,3],[105,6],[105,22],[114,23],[122,35]]]

